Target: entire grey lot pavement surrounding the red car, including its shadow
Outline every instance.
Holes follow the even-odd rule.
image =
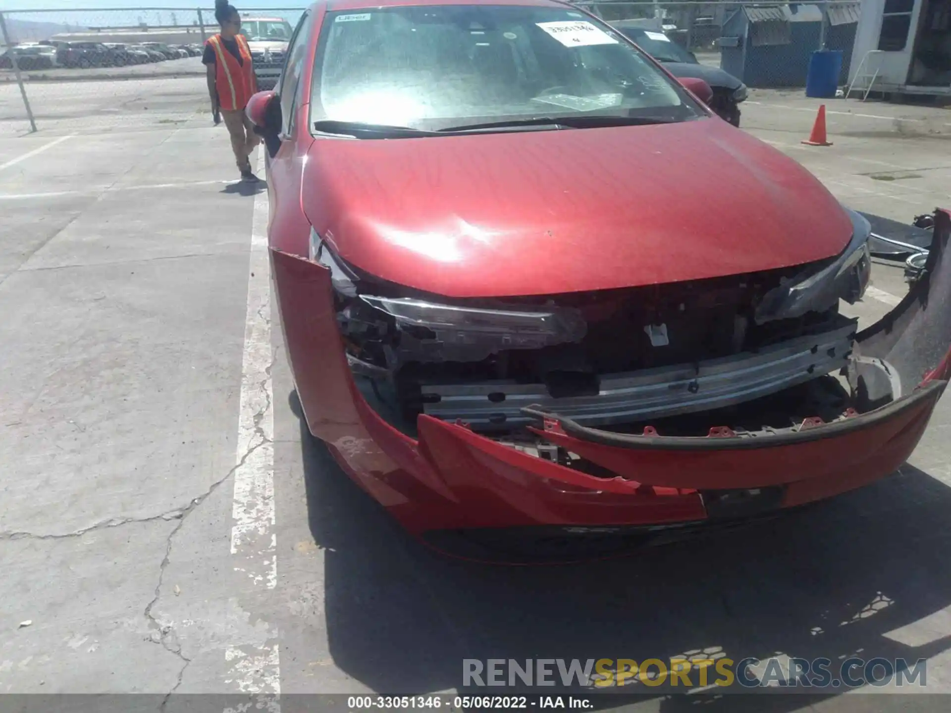
[[[0,87],[0,692],[152,693],[154,710],[171,691],[452,691],[466,658],[700,651],[925,657],[926,690],[951,691],[951,401],[901,472],[793,517],[584,566],[442,559],[302,429],[266,193],[233,183],[201,82],[142,84],[49,85],[27,137]],[[805,151],[802,113],[747,109],[856,207],[946,202],[945,140]],[[873,283],[866,321],[904,289],[882,266]],[[705,709],[944,707],[868,690]]]

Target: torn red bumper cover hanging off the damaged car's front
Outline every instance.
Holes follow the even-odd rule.
[[[281,325],[312,434],[415,533],[554,526],[671,526],[800,505],[894,472],[914,450],[951,373],[951,215],[936,214],[924,277],[857,337],[853,386],[869,409],[788,432],[740,437],[616,434],[557,413],[534,431],[596,464],[596,477],[522,453],[465,425],[418,417],[418,439],[359,395],[340,342],[329,272],[272,250]],[[612,476],[611,476],[612,475]],[[738,499],[737,499],[738,498]],[[579,530],[580,529],[580,530]]]

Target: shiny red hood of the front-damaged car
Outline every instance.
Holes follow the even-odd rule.
[[[841,252],[822,183],[714,118],[418,139],[319,138],[301,202],[343,260],[449,297],[707,279]]]

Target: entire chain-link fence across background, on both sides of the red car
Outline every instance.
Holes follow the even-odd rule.
[[[862,12],[855,0],[576,5],[661,61],[720,67],[762,88],[805,87],[810,56],[819,48],[842,51],[844,84]],[[304,10],[238,6],[245,18],[281,20],[288,29]],[[0,20],[0,131],[80,119],[95,127],[178,123],[204,109],[200,55],[205,39],[218,31],[211,8],[2,10]],[[156,99],[163,96],[167,101]],[[142,116],[126,111],[137,97],[152,98]]]

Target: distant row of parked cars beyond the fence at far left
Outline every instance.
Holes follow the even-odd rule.
[[[17,65],[24,70],[69,67],[128,67],[146,65],[165,60],[197,57],[202,46],[166,45],[162,42],[126,44],[122,42],[61,42],[44,40],[35,44],[19,45],[0,55],[0,69],[13,66],[11,54],[15,53]]]

